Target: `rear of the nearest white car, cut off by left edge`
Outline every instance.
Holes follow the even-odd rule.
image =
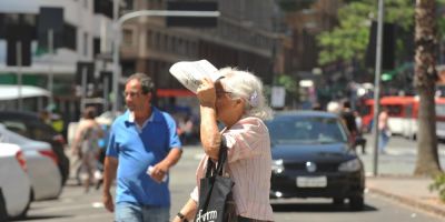
[[[0,143],[0,221],[21,218],[31,202],[27,162],[16,144]]]

